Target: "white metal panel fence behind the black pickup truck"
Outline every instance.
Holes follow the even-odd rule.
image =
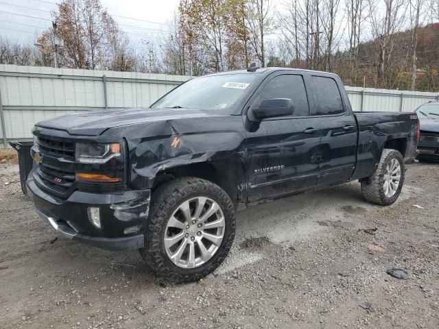
[[[178,84],[182,75],[0,65],[0,136],[32,138],[38,121],[102,108],[145,108]],[[437,93],[346,87],[355,111],[413,111]],[[5,132],[5,133],[3,133]]]

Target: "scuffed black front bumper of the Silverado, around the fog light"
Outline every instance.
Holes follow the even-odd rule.
[[[150,190],[119,194],[75,191],[68,199],[59,199],[40,189],[32,175],[26,185],[38,215],[67,238],[114,251],[143,247]],[[99,207],[101,228],[89,221],[90,206]]]

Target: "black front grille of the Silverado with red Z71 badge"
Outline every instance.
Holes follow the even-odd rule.
[[[71,165],[75,161],[75,143],[60,138],[38,136],[38,154],[41,158],[62,158],[50,164],[38,164],[34,171],[34,179],[40,188],[57,197],[68,197],[75,182],[75,172]]]

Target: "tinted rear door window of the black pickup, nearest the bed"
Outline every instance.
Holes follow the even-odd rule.
[[[312,77],[317,95],[317,115],[340,114],[344,112],[342,96],[337,83],[331,77]]]

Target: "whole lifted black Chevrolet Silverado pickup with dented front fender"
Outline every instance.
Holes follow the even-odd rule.
[[[392,204],[416,155],[414,113],[353,113],[337,75],[257,69],[198,77],[150,108],[72,114],[33,129],[27,195],[71,239],[139,249],[176,282],[227,256],[235,210],[358,180]]]

